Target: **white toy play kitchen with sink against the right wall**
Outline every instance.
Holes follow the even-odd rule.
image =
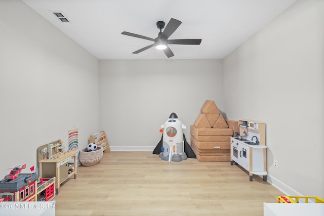
[[[239,134],[231,138],[231,165],[237,163],[267,181],[267,146],[265,145],[265,123],[254,120],[238,120]]]

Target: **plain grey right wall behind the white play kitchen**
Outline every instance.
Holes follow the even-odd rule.
[[[289,195],[324,197],[323,12],[298,1],[223,60],[227,116],[266,122],[268,179]]]

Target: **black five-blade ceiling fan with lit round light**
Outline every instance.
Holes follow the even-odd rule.
[[[142,36],[139,34],[130,33],[127,31],[121,32],[121,34],[132,36],[132,37],[138,37],[146,40],[154,41],[154,44],[149,45],[147,47],[144,47],[142,49],[139,49],[133,54],[138,54],[140,52],[143,52],[151,47],[155,47],[157,50],[163,50],[164,53],[167,55],[168,58],[174,56],[171,49],[168,47],[169,44],[176,44],[176,45],[199,45],[201,42],[201,39],[171,39],[168,38],[175,32],[175,30],[180,26],[182,22],[176,19],[171,18],[169,23],[167,24],[166,28],[162,32],[162,29],[165,27],[164,21],[158,21],[156,22],[156,26],[158,29],[160,29],[160,32],[158,33],[158,36],[156,38],[150,38],[146,36]]]

